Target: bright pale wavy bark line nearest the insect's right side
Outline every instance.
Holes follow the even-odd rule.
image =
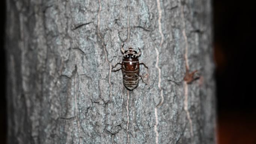
[[[162,9],[161,9],[161,5],[160,5],[160,0],[156,0],[157,3],[157,8],[158,8],[158,30],[159,33],[161,35],[161,42],[160,42],[160,48],[162,47],[162,43],[164,41],[164,34],[162,33],[162,25],[161,25],[161,18],[162,18]],[[161,88],[161,68],[159,68],[159,51],[158,49],[155,47],[156,50],[156,65],[155,67],[158,69],[158,88],[160,90],[160,95],[161,95],[161,102],[155,107],[155,119],[156,119],[156,124],[154,126],[154,131],[156,133],[156,144],[158,144],[158,138],[159,138],[159,133],[157,130],[157,126],[158,126],[158,107],[160,107],[162,105],[162,103],[164,102],[164,96],[163,96],[163,90]]]

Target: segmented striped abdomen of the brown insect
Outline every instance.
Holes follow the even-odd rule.
[[[138,86],[138,74],[137,71],[125,71],[123,70],[123,83],[124,86],[130,90]]]

